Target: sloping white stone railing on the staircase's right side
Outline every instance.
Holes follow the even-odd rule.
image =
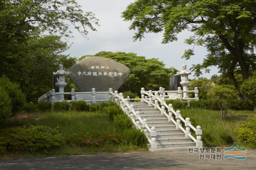
[[[179,110],[174,111],[172,104],[167,105],[165,100],[165,96],[163,94],[158,94],[158,91],[145,91],[144,88],[141,88],[141,101],[148,103],[149,106],[154,106],[159,109],[161,114],[165,115],[168,118],[168,121],[172,121],[174,125],[176,125],[176,129],[180,129],[185,133],[185,137],[190,137],[195,143],[196,147],[203,147],[202,143],[202,129],[201,126],[196,126],[196,128],[191,124],[190,118],[184,119]],[[154,92],[154,94],[153,94]],[[146,96],[148,98],[146,98]],[[160,105],[158,104],[160,103]],[[168,114],[166,113],[166,109],[168,110]],[[174,117],[175,116],[175,117]],[[182,127],[182,123],[184,123],[185,129]],[[196,138],[191,135],[190,130],[193,130],[196,134]]]

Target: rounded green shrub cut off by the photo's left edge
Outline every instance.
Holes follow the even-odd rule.
[[[12,115],[12,100],[4,88],[0,87],[0,121]]]

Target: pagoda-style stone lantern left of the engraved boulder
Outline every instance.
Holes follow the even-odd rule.
[[[57,72],[53,72],[54,76],[58,76],[57,82],[55,85],[59,88],[60,93],[64,93],[64,88],[67,85],[65,76],[67,75],[66,71],[63,69],[63,65],[59,65],[59,70]],[[59,95],[59,100],[64,101],[64,94]]]

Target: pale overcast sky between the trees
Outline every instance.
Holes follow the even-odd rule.
[[[84,11],[92,11],[100,21],[97,31],[89,31],[88,38],[85,39],[77,31],[73,31],[74,38],[69,39],[73,43],[70,49],[64,52],[71,57],[81,57],[83,55],[94,55],[100,51],[112,52],[132,52],[145,56],[147,59],[158,58],[166,64],[166,67],[182,69],[185,62],[187,68],[192,64],[202,63],[207,54],[206,48],[195,47],[195,55],[190,60],[181,59],[184,50],[192,48],[184,43],[184,39],[192,35],[189,31],[178,34],[178,41],[161,44],[162,33],[146,34],[142,41],[133,42],[134,30],[129,30],[129,22],[123,21],[121,13],[128,4],[134,0],[77,0]],[[74,29],[74,28],[71,28]],[[210,78],[213,74],[218,74],[216,67],[210,68],[209,74],[204,73],[203,77]],[[192,75],[194,75],[192,73]],[[192,75],[190,78],[192,78]]]

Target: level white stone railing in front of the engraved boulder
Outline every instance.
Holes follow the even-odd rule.
[[[83,100],[88,104],[95,104],[111,100],[112,95],[110,95],[110,92],[112,92],[112,88],[110,88],[108,92],[96,92],[95,88],[92,88],[92,92],[75,92],[74,88],[71,89],[71,92],[55,92],[55,89],[52,89],[38,98],[38,102],[45,101],[54,104],[55,102],[65,101],[72,103],[73,101]],[[64,95],[71,95],[71,100],[58,100],[64,98]]]

